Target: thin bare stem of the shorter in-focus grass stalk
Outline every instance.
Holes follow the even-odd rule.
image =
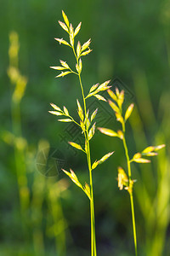
[[[127,172],[128,172],[128,181],[129,181],[129,187],[131,186],[132,183],[132,177],[131,177],[131,166],[130,166],[130,159],[129,159],[129,154],[128,154],[128,148],[127,148],[127,142],[125,138],[125,123],[122,123],[122,131],[123,131],[123,146],[125,149],[125,154],[127,158]],[[130,202],[131,202],[131,212],[132,212],[132,220],[133,220],[133,240],[134,240],[134,249],[135,249],[135,256],[138,255],[137,253],[137,236],[136,236],[136,224],[135,224],[135,216],[134,216],[134,205],[133,205],[133,189],[129,190],[129,195],[130,195]]]

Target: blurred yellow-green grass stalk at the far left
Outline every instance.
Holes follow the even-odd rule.
[[[27,185],[26,176],[26,148],[27,142],[22,137],[21,119],[20,119],[20,102],[24,96],[26,90],[27,79],[20,74],[19,70],[19,37],[16,32],[10,32],[9,34],[9,67],[8,78],[11,81],[12,99],[11,99],[11,118],[12,118],[12,133],[6,132],[5,138],[9,138],[9,141],[14,146],[14,160],[16,168],[16,176],[19,187],[20,196],[20,214],[23,220],[23,230],[26,232],[26,223],[29,203],[30,203],[30,191]]]

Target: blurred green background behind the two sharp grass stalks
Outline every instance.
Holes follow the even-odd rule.
[[[82,182],[88,181],[84,155],[66,143],[81,141],[81,134],[48,113],[54,102],[77,118],[77,97],[81,101],[77,78],[54,79],[58,73],[49,68],[59,59],[73,63],[70,49],[54,41],[66,37],[57,22],[62,9],[74,27],[82,21],[82,43],[92,38],[94,50],[83,61],[86,93],[93,84],[112,79],[113,87],[118,83],[127,93],[126,101],[135,102],[127,125],[131,156],[148,145],[167,145],[150,165],[133,164],[139,255],[167,256],[170,1],[125,0],[1,1],[0,255],[90,252],[88,199],[60,171],[71,167]],[[96,104],[101,109],[97,125],[118,129],[107,104],[89,102],[92,110]],[[126,167],[122,144],[97,133],[91,147],[93,161],[116,151],[94,171],[98,255],[133,255],[129,198],[116,182],[117,166]],[[57,166],[54,159],[46,164],[48,148]],[[51,174],[44,175],[51,166]]]

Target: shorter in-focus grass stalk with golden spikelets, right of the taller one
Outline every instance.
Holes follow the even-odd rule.
[[[141,153],[136,153],[133,155],[133,158],[130,160],[129,153],[128,153],[128,147],[127,147],[127,140],[126,140],[126,122],[127,119],[130,117],[131,113],[133,112],[133,104],[130,104],[130,106],[127,108],[125,114],[122,113],[122,104],[124,102],[124,91],[121,92],[116,88],[116,93],[114,93],[112,90],[108,90],[109,96],[111,96],[111,100],[109,100],[109,104],[113,111],[116,114],[116,120],[121,123],[122,130],[119,131],[113,131],[111,129],[102,128],[99,127],[99,131],[104,133],[107,136],[110,137],[119,137],[122,140],[126,160],[127,160],[127,172],[123,170],[122,167],[118,167],[118,187],[119,189],[126,189],[129,196],[130,196],[130,204],[131,204],[131,212],[132,212],[132,222],[133,222],[133,241],[134,241],[134,251],[135,256],[138,255],[138,249],[137,249],[137,235],[136,235],[136,224],[135,224],[135,214],[134,214],[134,204],[133,204],[133,183],[135,180],[132,179],[132,173],[131,173],[131,163],[149,163],[150,160],[146,159],[147,156],[154,156],[156,155],[156,151],[165,147],[164,144],[159,146],[150,146],[147,148],[144,148],[144,150]],[[144,158],[143,158],[144,156]]]

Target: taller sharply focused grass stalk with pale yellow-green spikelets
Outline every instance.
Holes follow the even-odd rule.
[[[72,24],[69,22],[67,16],[65,15],[64,11],[62,11],[62,15],[65,22],[59,21],[59,25],[65,30],[65,32],[68,33],[70,42],[68,43],[63,38],[55,38],[59,42],[59,44],[65,44],[66,46],[69,46],[73,52],[73,55],[75,55],[76,58],[76,70],[73,71],[71,67],[65,62],[60,61],[61,66],[58,67],[52,67],[55,70],[60,70],[61,73],[57,76],[64,77],[65,75],[69,73],[74,73],[77,75],[80,88],[82,91],[82,102],[83,102],[83,108],[81,107],[80,102],[77,100],[77,112],[80,121],[77,122],[75,119],[73,119],[68,112],[67,108],[63,108],[61,110],[59,107],[54,105],[54,103],[51,103],[52,108],[54,108],[55,111],[49,111],[49,113],[53,113],[57,116],[64,116],[66,119],[59,119],[61,122],[74,122],[76,125],[78,125],[82,129],[82,133],[84,135],[84,145],[83,147],[77,143],[69,142],[70,145],[74,148],[77,148],[79,150],[82,150],[83,153],[86,154],[86,158],[88,161],[88,173],[89,173],[89,185],[88,183],[85,183],[84,186],[82,186],[82,183],[79,182],[77,175],[75,172],[73,172],[70,169],[70,172],[67,172],[63,170],[69,177],[71,177],[71,180],[77,184],[78,187],[80,187],[86,195],[88,195],[88,199],[90,201],[90,218],[91,218],[91,256],[96,256],[96,238],[95,238],[95,219],[94,219],[94,185],[93,185],[93,169],[95,169],[99,164],[103,163],[105,160],[107,160],[113,152],[105,154],[100,160],[95,160],[94,164],[92,164],[91,160],[91,152],[90,152],[90,140],[92,137],[94,137],[95,133],[95,116],[97,114],[98,109],[95,109],[93,113],[90,113],[89,109],[87,109],[87,99],[91,96],[96,97],[97,99],[101,101],[106,101],[103,96],[99,95],[100,91],[108,90],[110,86],[108,84],[110,81],[106,81],[103,84],[94,84],[91,89],[88,92],[88,96],[85,96],[84,88],[82,85],[82,56],[88,55],[92,49],[89,49],[89,45],[91,43],[91,39],[89,39],[86,43],[82,44],[80,41],[77,42],[77,47],[75,47],[75,37],[77,36],[77,33],[81,29],[82,22],[80,22],[77,26],[77,28],[74,30]],[[64,71],[64,72],[63,72]]]

